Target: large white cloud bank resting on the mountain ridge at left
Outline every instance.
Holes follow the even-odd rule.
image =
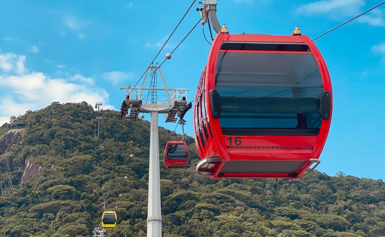
[[[53,101],[103,101],[105,108],[115,109],[108,104],[108,93],[104,89],[89,87],[89,84],[94,85],[93,79],[78,74],[68,79],[51,78],[41,72],[25,74],[24,61],[24,55],[0,54],[0,125],[9,122],[12,115],[44,108]]]

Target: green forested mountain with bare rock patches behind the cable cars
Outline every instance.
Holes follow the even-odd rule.
[[[0,127],[0,237],[90,236],[104,196],[118,215],[108,236],[146,236],[150,124],[118,115],[103,112],[97,140],[86,102],[54,102]],[[159,128],[159,157],[171,134]],[[187,144],[187,169],[159,160],[164,237],[385,237],[382,180],[318,171],[300,182],[213,180],[196,173]]]

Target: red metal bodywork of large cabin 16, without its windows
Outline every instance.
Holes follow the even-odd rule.
[[[232,42],[280,42],[280,43],[305,43],[310,51],[256,51],[256,50],[220,50],[224,41]],[[275,35],[230,35],[218,34],[210,50],[209,58],[205,70],[202,73],[197,93],[195,105],[202,110],[203,117],[210,122],[212,131],[206,146],[203,147],[197,134],[196,127],[201,125],[198,120],[197,108],[193,111],[194,136],[198,153],[201,159],[219,156],[223,162],[215,167],[215,174],[212,178],[296,178],[300,177],[311,165],[310,158],[319,158],[325,145],[327,134],[330,128],[330,119],[322,120],[318,136],[236,136],[242,141],[242,148],[230,146],[227,140],[230,136],[224,136],[222,133],[219,119],[211,116],[211,106],[209,103],[209,91],[215,89],[215,71],[219,52],[239,52],[239,53],[280,53],[280,54],[312,54],[320,69],[324,91],[330,91],[332,94],[331,80],[327,71],[326,64],[311,39],[306,36],[275,36]],[[203,83],[203,84],[201,84]],[[203,88],[201,88],[203,86]],[[206,106],[198,104],[198,95],[203,93],[203,101]],[[331,104],[332,105],[332,104]],[[332,108],[332,106],[331,106]],[[200,111],[199,111],[200,113]],[[331,114],[331,112],[330,112]],[[235,136],[233,136],[235,137]],[[201,152],[202,151],[202,152]],[[231,160],[304,160],[305,162],[297,171],[296,175],[289,174],[220,174],[225,162]]]

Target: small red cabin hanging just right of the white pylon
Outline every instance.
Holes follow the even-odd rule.
[[[188,148],[184,141],[168,141],[164,149],[164,164],[167,168],[184,168],[188,159]]]

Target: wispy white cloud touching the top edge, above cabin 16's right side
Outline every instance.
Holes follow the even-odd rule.
[[[321,0],[314,1],[298,7],[297,11],[305,15],[328,14],[335,17],[339,15],[353,15],[360,12],[365,5],[365,0]]]

